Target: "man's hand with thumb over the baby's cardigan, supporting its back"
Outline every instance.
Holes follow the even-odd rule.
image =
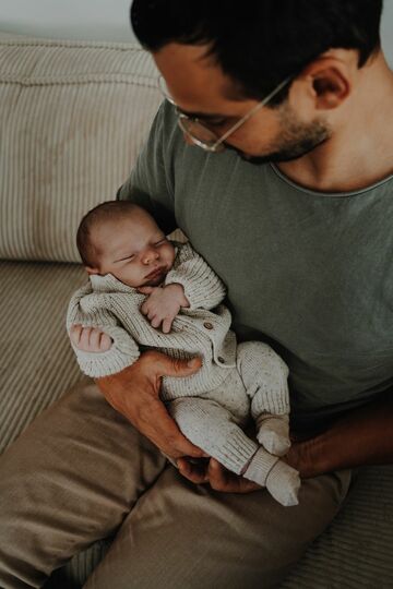
[[[97,378],[96,383],[107,401],[166,456],[199,458],[205,454],[182,435],[158,395],[162,376],[190,376],[201,368],[201,363],[199,358],[187,362],[146,351],[131,366]]]

